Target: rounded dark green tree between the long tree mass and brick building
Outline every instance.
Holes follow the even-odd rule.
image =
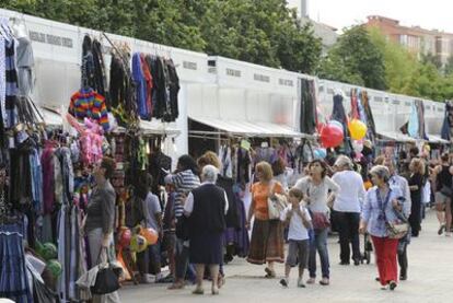
[[[383,54],[361,25],[345,31],[322,60],[318,74],[371,89],[386,89]]]

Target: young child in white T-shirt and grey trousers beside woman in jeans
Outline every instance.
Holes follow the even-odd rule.
[[[289,191],[289,206],[281,212],[280,220],[289,224],[288,256],[284,266],[284,278],[280,284],[288,287],[288,279],[291,267],[294,267],[299,260],[299,279],[298,287],[304,288],[302,276],[309,261],[309,230],[312,229],[312,218],[309,210],[303,205],[303,193],[298,188],[291,188]]]

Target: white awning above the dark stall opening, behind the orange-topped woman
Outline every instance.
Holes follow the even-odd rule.
[[[271,123],[252,123],[245,120],[222,120],[207,117],[189,117],[190,119],[224,131],[230,135],[247,137],[290,137],[303,138],[310,135],[297,132],[290,127]]]

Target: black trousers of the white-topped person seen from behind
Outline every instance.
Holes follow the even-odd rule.
[[[352,246],[352,259],[360,260],[359,224],[360,213],[358,212],[336,212],[340,240],[340,260],[349,263],[351,257],[350,244]]]

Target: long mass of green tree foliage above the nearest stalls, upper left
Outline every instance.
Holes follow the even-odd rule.
[[[0,0],[2,8],[210,55],[312,72],[321,40],[286,0]]]

